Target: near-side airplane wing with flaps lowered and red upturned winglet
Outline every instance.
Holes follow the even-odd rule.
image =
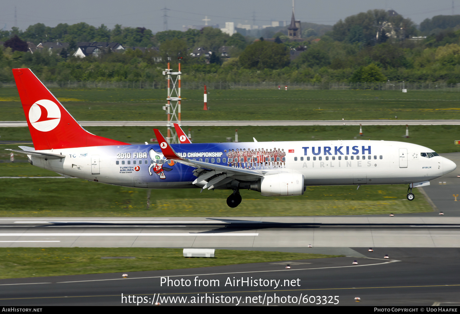
[[[278,174],[287,172],[282,170],[252,170],[235,168],[214,163],[204,163],[201,161],[186,159],[178,156],[178,154],[173,150],[173,147],[167,143],[164,136],[158,129],[153,130],[155,131],[155,135],[158,143],[160,144],[163,156],[166,157],[166,159],[172,159],[178,163],[182,163],[190,167],[195,167],[196,169],[194,170],[194,175],[197,178],[195,181],[193,181],[193,184],[202,186],[203,189],[212,190],[221,185],[226,185],[234,179],[253,181],[265,176],[266,174]],[[203,183],[205,184],[203,185]]]

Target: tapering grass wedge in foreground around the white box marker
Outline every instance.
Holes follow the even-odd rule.
[[[134,259],[101,259],[131,256]],[[41,276],[130,273],[221,265],[331,258],[336,255],[216,250],[215,258],[184,258],[181,248],[0,248],[0,279]],[[282,265],[280,265],[282,269]],[[121,274],[120,274],[121,278]]]

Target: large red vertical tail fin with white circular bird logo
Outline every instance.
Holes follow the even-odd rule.
[[[83,129],[30,69],[13,69],[13,76],[36,150],[128,145]]]

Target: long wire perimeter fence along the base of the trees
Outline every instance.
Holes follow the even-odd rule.
[[[48,88],[120,88],[120,89],[166,89],[167,81],[160,82],[93,82],[93,81],[61,81],[43,82]],[[460,92],[459,84],[448,83],[413,83],[413,82],[384,82],[384,83],[305,83],[305,82],[187,82],[182,80],[183,90],[202,90],[206,85],[208,90],[436,90]],[[14,82],[0,83],[0,87],[16,87]]]

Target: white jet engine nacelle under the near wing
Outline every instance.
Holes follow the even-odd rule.
[[[251,190],[262,196],[294,196],[304,194],[304,175],[294,173],[269,174],[262,177]]]

